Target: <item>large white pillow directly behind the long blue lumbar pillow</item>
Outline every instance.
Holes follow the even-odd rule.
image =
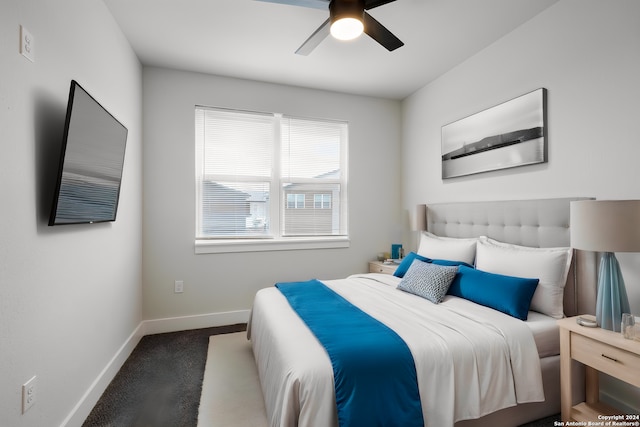
[[[476,249],[476,268],[490,273],[540,279],[531,310],[564,317],[564,285],[571,267],[571,248],[531,248],[482,236]]]

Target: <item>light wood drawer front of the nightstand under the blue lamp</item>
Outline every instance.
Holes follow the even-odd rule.
[[[640,387],[640,356],[580,334],[571,334],[571,358]]]

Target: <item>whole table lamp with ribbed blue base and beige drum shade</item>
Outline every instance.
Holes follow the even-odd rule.
[[[640,252],[640,200],[571,202],[571,246],[602,252],[598,270],[596,320],[620,332],[622,313],[630,313],[622,272],[614,252]]]

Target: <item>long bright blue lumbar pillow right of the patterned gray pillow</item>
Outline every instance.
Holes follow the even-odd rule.
[[[462,265],[448,293],[527,320],[538,282],[539,279],[504,276]]]

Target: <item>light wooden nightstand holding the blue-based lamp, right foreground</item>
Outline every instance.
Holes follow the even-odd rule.
[[[621,411],[600,402],[598,372],[640,387],[640,342],[621,333],[588,328],[576,317],[558,320],[560,327],[560,396],[563,421],[601,421],[598,415],[620,415]],[[586,402],[573,404],[571,360],[585,365]]]

